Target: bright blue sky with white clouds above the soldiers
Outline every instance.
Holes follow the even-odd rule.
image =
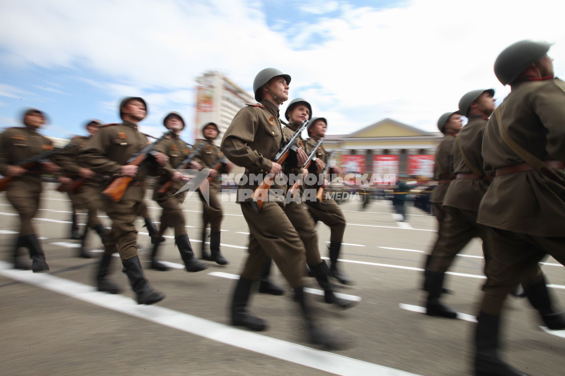
[[[121,98],[142,96],[142,131],[160,135],[175,110],[192,141],[195,78],[219,70],[251,92],[274,67],[328,134],[384,118],[434,132],[467,91],[508,94],[493,63],[511,43],[555,43],[563,76],[564,11],[553,0],[2,0],[0,128],[34,107],[49,116],[44,134],[68,138],[89,118],[119,122]]]

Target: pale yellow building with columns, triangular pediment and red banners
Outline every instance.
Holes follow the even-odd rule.
[[[348,135],[327,135],[336,164],[347,172],[408,174],[431,178],[436,147],[444,135],[386,118]]]

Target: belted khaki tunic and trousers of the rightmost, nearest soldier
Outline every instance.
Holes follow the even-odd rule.
[[[522,81],[500,105],[502,125],[516,143],[542,161],[565,161],[565,83]],[[493,115],[483,138],[484,170],[524,163],[502,140]],[[556,170],[565,178],[563,170]],[[477,221],[490,226],[492,267],[482,309],[497,315],[506,294],[550,254],[565,264],[565,187],[536,170],[495,176]],[[533,280],[533,278],[532,278]]]

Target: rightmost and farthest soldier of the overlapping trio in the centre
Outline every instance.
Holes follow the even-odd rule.
[[[328,121],[323,117],[314,117],[308,123],[308,135],[311,137],[306,140],[306,153],[310,154],[312,149],[320,138],[324,138],[325,131],[328,127]],[[318,149],[316,166],[318,172],[321,172],[325,165],[329,163],[329,154],[325,151],[323,145]],[[328,170],[330,176],[341,174],[340,167],[331,166]],[[310,189],[310,188],[307,188]],[[342,284],[351,284],[353,281],[337,268],[337,259],[340,256],[341,242],[344,240],[345,233],[345,216],[336,201],[330,197],[323,197],[320,205],[315,201],[307,200],[308,213],[314,219],[314,223],[320,220],[330,228],[329,236],[329,262],[331,263],[330,271],[332,277],[340,281]]]

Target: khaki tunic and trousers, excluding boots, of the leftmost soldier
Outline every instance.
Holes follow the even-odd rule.
[[[29,127],[10,128],[0,134],[0,174],[8,166],[53,149],[51,140]],[[40,169],[14,178],[6,189],[6,198],[20,214],[20,234],[35,233],[32,218],[39,209],[41,196]]]

